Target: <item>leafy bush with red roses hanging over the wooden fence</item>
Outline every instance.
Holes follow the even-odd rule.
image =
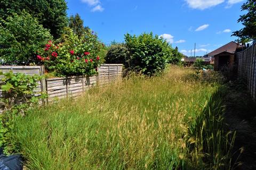
[[[103,61],[100,57],[103,46],[91,31],[86,32],[84,39],[79,39],[70,28],[65,28],[56,43],[49,41],[37,55],[47,71],[59,77],[97,74],[97,66]]]

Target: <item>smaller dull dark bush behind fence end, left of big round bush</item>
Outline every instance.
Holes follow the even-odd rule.
[[[106,63],[109,64],[124,64],[127,67],[129,63],[129,51],[125,44],[111,45],[107,55]]]

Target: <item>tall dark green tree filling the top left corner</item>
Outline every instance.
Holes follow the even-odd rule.
[[[54,38],[58,38],[68,25],[65,0],[1,0],[0,18],[5,20],[12,13],[20,14],[23,9],[37,18],[44,28],[50,29]]]

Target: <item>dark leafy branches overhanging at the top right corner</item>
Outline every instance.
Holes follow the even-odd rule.
[[[247,13],[241,15],[237,21],[238,23],[241,22],[244,28],[233,32],[232,36],[238,37],[238,41],[241,43],[246,43],[256,39],[256,1],[247,0],[247,2],[242,5],[241,9],[242,11],[247,11]]]

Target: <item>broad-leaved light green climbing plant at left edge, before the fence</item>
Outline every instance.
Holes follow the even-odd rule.
[[[25,75],[23,73],[13,74],[13,72],[2,73],[1,79],[1,111],[0,114],[0,147],[5,151],[10,150],[11,137],[10,129],[13,128],[12,116],[25,115],[29,108],[38,104],[39,99],[46,98],[46,94],[36,93],[37,81],[42,77],[39,75]]]

